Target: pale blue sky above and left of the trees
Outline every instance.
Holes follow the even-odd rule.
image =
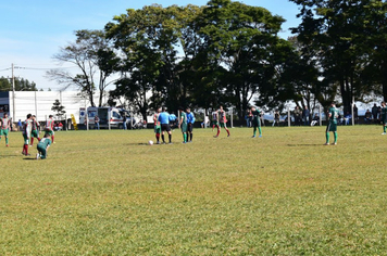
[[[79,29],[103,29],[115,15],[127,9],[142,9],[153,3],[163,7],[205,5],[208,0],[18,0],[0,2],[0,77],[14,76],[28,79],[38,89],[61,90],[63,86],[49,80],[45,75],[52,68],[65,67],[76,73],[71,64],[59,66],[52,56],[61,47],[75,41],[74,31]],[[248,5],[262,7],[273,15],[283,16],[280,37],[291,34],[299,20],[299,8],[288,0],[240,0]]]

